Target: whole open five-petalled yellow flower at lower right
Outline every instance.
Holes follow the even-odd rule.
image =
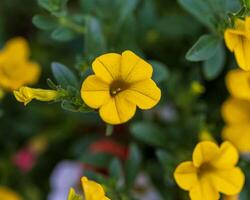
[[[200,142],[194,149],[193,161],[181,163],[174,172],[177,184],[189,191],[192,200],[218,200],[220,194],[238,194],[245,177],[235,167],[239,159],[229,142],[220,147],[214,142]]]

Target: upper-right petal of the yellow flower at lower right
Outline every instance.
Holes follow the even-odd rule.
[[[237,149],[230,142],[223,142],[220,146],[220,156],[212,163],[213,166],[220,169],[234,167],[239,160]]]

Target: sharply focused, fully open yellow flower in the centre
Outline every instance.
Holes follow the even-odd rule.
[[[92,68],[95,75],[83,82],[81,96],[109,124],[127,122],[136,106],[150,109],[161,98],[151,79],[152,66],[131,51],[104,54],[95,59]]]

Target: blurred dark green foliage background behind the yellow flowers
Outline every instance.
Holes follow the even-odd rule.
[[[71,69],[80,87],[91,72],[93,58],[129,49],[153,65],[153,79],[162,90],[158,106],[137,111],[131,121],[115,126],[109,137],[98,113],[79,112],[72,102],[33,101],[23,106],[12,92],[4,91],[0,199],[1,190],[9,188],[24,200],[63,200],[69,187],[79,188],[82,175],[105,185],[115,200],[188,199],[176,186],[173,170],[191,158],[202,133],[221,141],[220,109],[228,96],[224,78],[236,64],[223,41],[222,59],[210,62],[214,68],[185,59],[200,35],[213,31],[183,2],[0,1],[0,48],[17,36],[28,41],[30,59],[42,71],[33,87],[49,88],[48,78],[56,82],[52,62]],[[210,9],[216,13],[216,23],[240,8],[236,0],[226,4],[223,12],[215,4]],[[241,165],[249,168],[247,161]],[[247,192],[242,199],[249,199]]]

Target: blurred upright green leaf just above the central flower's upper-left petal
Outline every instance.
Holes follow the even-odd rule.
[[[106,41],[101,23],[97,18],[88,17],[86,20],[85,47],[90,58],[95,58],[106,51]]]

